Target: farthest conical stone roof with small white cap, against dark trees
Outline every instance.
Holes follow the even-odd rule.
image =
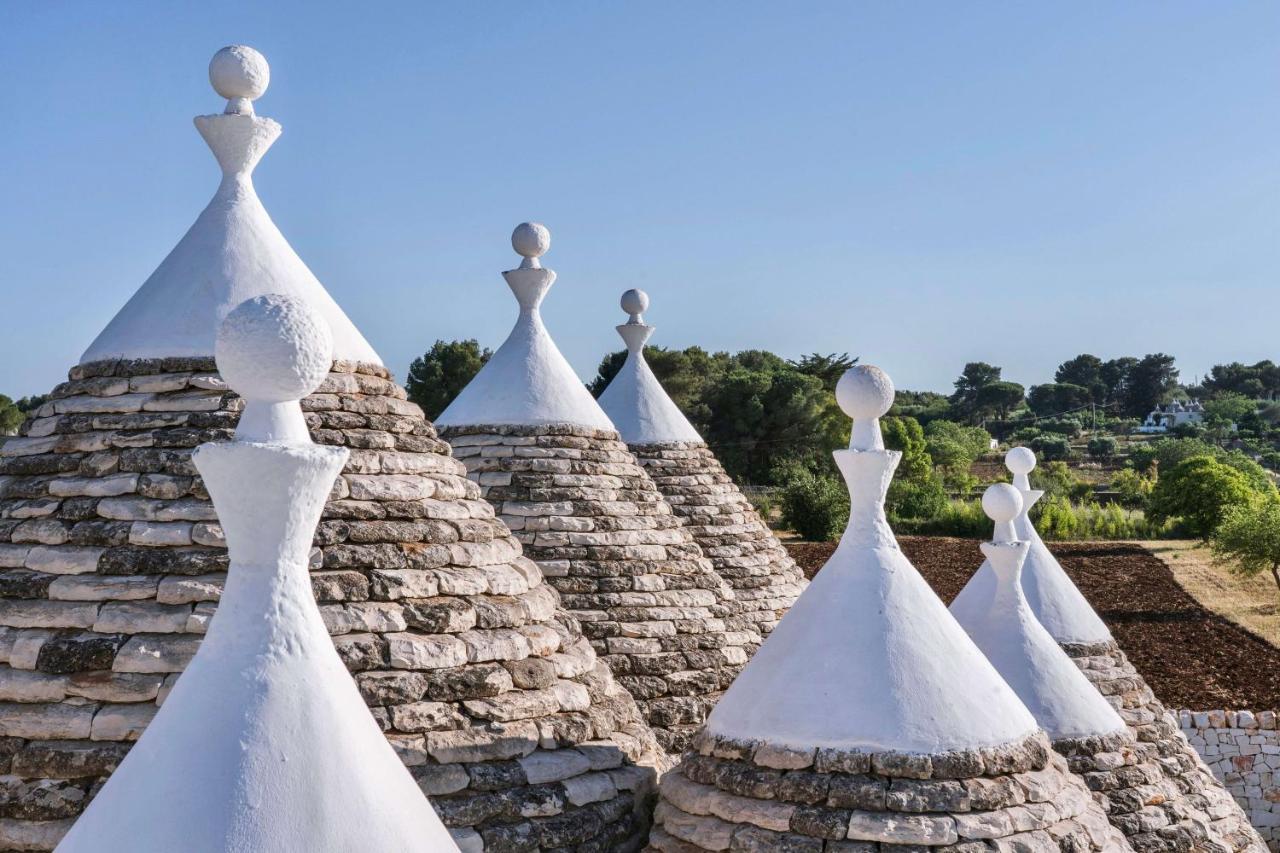
[[[644,321],[648,307],[644,291],[622,295],[630,318],[617,329],[627,359],[600,394],[600,407],[733,588],[730,625],[767,635],[808,581],[649,368],[644,345],[654,328]]]

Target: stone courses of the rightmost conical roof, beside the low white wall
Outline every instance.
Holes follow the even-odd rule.
[[[1075,661],[1084,675],[1093,683],[1137,738],[1138,761],[1144,766],[1157,766],[1162,771],[1161,781],[1148,781],[1129,792],[1102,790],[1116,804],[1135,804],[1143,794],[1148,795],[1146,808],[1132,817],[1149,826],[1148,836],[1130,835],[1137,849],[1221,849],[1213,839],[1221,839],[1231,850],[1266,850],[1257,831],[1249,826],[1244,812],[1231,798],[1222,784],[1213,777],[1212,771],[1188,743],[1178,720],[1156,698],[1147,681],[1142,678],[1125,653],[1115,642],[1105,643],[1062,643],[1062,648]],[[1087,767],[1087,762],[1078,762]],[[1089,780],[1089,776],[1085,775]],[[1105,777],[1091,780],[1091,785],[1101,784]],[[1171,790],[1170,790],[1171,789]],[[1162,793],[1167,792],[1167,793]],[[1167,824],[1162,821],[1167,820]],[[1123,816],[1112,821],[1124,825]],[[1176,822],[1175,822],[1176,821]],[[1197,826],[1208,824],[1210,841],[1201,847],[1201,839],[1188,834]],[[1128,833],[1128,829],[1125,830]],[[1166,841],[1158,847],[1158,841]],[[1146,847],[1149,843],[1152,847]],[[1139,847],[1143,844],[1143,847]]]

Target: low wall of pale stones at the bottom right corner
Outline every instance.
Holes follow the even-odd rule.
[[[1275,711],[1179,711],[1178,722],[1272,850],[1280,850],[1280,729]]]

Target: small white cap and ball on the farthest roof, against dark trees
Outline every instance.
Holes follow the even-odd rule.
[[[703,437],[667,396],[645,361],[644,345],[654,332],[654,327],[644,321],[648,307],[649,296],[644,291],[630,289],[622,295],[622,310],[631,316],[616,328],[627,345],[627,360],[600,394],[600,407],[627,444],[701,442]]]

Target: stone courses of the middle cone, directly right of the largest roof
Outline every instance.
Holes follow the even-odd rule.
[[[444,434],[584,634],[678,753],[759,643],[733,592],[617,433],[568,424]]]

